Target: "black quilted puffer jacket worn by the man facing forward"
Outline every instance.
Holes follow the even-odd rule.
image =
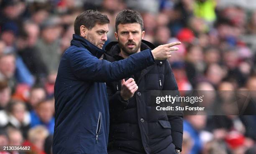
[[[141,50],[149,48],[154,45],[142,40]],[[106,50],[106,60],[123,59],[117,42],[111,42]],[[182,148],[183,116],[153,113],[150,103],[154,90],[178,90],[169,62],[156,60],[154,65],[130,77],[135,79],[138,90],[128,101],[120,97],[120,80],[106,83],[110,108],[109,153],[175,154],[175,147]]]

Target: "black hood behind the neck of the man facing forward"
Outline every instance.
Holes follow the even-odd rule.
[[[141,51],[147,50],[147,49],[153,50],[154,48],[156,47],[151,42],[148,42],[146,40],[141,40]],[[118,42],[108,43],[108,45],[105,47],[105,50],[107,50],[106,55],[109,55],[111,57],[114,57],[115,55],[119,55],[119,53],[121,52]]]

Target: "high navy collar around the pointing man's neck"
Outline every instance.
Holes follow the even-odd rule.
[[[89,52],[92,53],[92,55],[94,55],[97,58],[100,58],[102,54],[106,52],[105,50],[102,50],[99,47],[96,47],[91,42],[86,40],[84,37],[81,37],[77,34],[73,34],[71,45],[86,48],[87,50],[89,50]]]

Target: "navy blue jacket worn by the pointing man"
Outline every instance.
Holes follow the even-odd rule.
[[[109,133],[105,82],[120,80],[154,64],[150,50],[125,60],[99,60],[105,52],[73,35],[54,86],[54,154],[106,154]]]

